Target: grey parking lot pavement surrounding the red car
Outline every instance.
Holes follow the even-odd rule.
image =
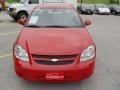
[[[0,90],[120,90],[120,16],[82,15],[97,46],[94,74],[72,83],[39,83],[16,76],[12,46],[22,26],[0,12]]]

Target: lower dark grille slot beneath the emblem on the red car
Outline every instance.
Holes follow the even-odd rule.
[[[44,65],[66,65],[71,64],[74,62],[74,60],[61,60],[61,61],[48,61],[48,60],[35,60],[38,64],[44,64]]]

